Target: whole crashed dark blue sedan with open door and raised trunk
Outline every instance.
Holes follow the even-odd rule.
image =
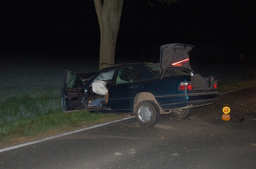
[[[62,111],[134,113],[144,126],[158,123],[160,114],[187,118],[193,108],[219,99],[214,76],[194,75],[188,55],[192,48],[162,45],[159,64],[123,63],[94,75],[66,70]]]

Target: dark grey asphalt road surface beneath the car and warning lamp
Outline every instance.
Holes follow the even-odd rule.
[[[229,104],[231,120],[222,121]],[[136,118],[0,152],[0,169],[255,168],[256,86],[222,94],[191,117]]]

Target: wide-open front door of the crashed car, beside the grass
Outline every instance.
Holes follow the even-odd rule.
[[[78,72],[66,70],[62,88],[62,112],[74,112],[85,109],[85,94]]]

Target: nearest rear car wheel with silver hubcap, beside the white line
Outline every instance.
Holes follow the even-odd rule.
[[[140,102],[137,105],[135,114],[137,120],[146,127],[155,125],[160,119],[160,110],[155,102],[151,100]]]

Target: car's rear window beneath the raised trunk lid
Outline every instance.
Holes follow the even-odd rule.
[[[168,76],[168,75],[187,75],[189,72],[186,70],[180,70],[180,69],[166,69],[161,70],[162,72],[160,73],[160,66],[159,65],[146,65],[146,67],[152,71],[155,75],[157,76]],[[163,74],[164,71],[164,74]]]

